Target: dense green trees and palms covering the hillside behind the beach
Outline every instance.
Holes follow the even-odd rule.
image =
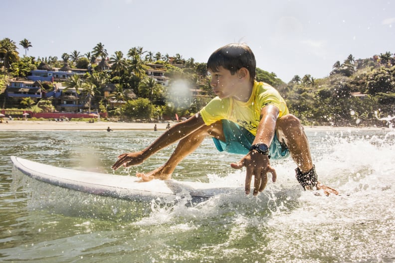
[[[28,48],[32,47],[27,39],[20,41],[19,45],[25,49],[23,57],[16,51],[14,41],[9,38],[0,40],[1,93],[8,78],[25,77],[44,62],[56,68],[64,65],[92,68],[91,74],[74,75],[64,86],[75,88],[82,97],[89,98],[89,107],[101,112],[108,111],[110,117],[161,119],[175,114],[190,116],[213,96],[206,64],[197,63],[193,58],[185,60],[180,54],[170,57],[133,47],[126,56],[121,51],[109,56],[104,45],[98,43],[84,55],[74,50],[69,54],[63,53],[61,59],[51,56],[35,58],[27,56]],[[93,63],[100,58],[99,65]],[[275,73],[257,68],[256,79],[276,87],[286,99],[290,111],[305,124],[385,126],[386,122],[379,118],[395,115],[394,60],[390,52],[358,60],[350,55],[343,63],[337,61],[326,78],[315,79],[307,74],[295,76],[289,83],[284,83]],[[105,65],[107,61],[111,70],[102,70],[100,64]],[[165,76],[170,78],[168,87],[145,74],[148,64],[166,67]],[[126,102],[122,107],[109,108],[108,98],[104,97],[104,90],[109,84],[115,85],[111,97]],[[50,83],[43,83],[42,86],[43,89],[52,88]],[[192,96],[190,89],[201,90],[203,96]],[[360,96],[353,96],[355,94]],[[1,98],[4,94],[0,95]],[[22,105],[11,107],[34,107],[33,103],[25,101]],[[41,102],[46,107],[50,104],[48,100]]]

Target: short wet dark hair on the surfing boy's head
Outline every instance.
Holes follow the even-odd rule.
[[[232,75],[239,69],[246,68],[250,81],[255,80],[255,56],[246,44],[227,44],[215,50],[208,58],[207,70],[217,72],[220,66],[229,70]]]

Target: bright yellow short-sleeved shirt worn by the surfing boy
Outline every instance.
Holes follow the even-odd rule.
[[[289,113],[284,99],[276,89],[267,83],[255,81],[247,102],[215,97],[200,110],[200,115],[206,125],[219,120],[229,120],[256,135],[261,109],[267,105],[274,105],[280,110],[278,117]]]

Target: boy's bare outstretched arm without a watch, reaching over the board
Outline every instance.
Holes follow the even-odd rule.
[[[188,120],[180,122],[169,128],[144,150],[138,152],[123,153],[119,155],[118,160],[114,163],[112,168],[116,170],[121,166],[127,167],[140,164],[155,152],[186,137],[187,135],[196,131],[204,125],[205,124],[203,122],[203,119],[200,117],[200,114],[197,113]]]

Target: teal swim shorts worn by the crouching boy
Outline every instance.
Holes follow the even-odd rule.
[[[249,152],[249,148],[255,139],[251,132],[228,120],[222,120],[222,129],[225,141],[212,138],[219,151],[244,155]],[[284,159],[290,155],[286,145],[281,145],[276,133],[274,133],[273,141],[269,147],[269,155],[271,159]]]

